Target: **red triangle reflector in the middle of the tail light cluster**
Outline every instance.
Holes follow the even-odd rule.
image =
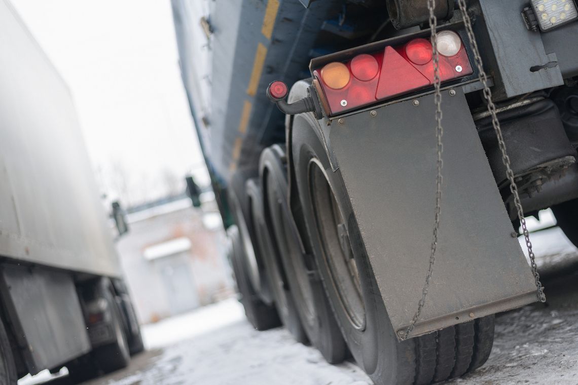
[[[394,48],[386,47],[375,95],[377,99],[406,94],[414,89],[427,87],[429,84],[429,80]]]

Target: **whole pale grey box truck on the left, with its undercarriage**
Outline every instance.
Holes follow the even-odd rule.
[[[0,383],[144,349],[71,92],[0,1]]]

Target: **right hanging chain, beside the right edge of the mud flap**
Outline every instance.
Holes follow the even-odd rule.
[[[526,220],[524,219],[524,210],[522,208],[522,203],[520,201],[520,194],[518,193],[518,185],[516,184],[516,180],[514,179],[514,172],[512,171],[512,167],[510,166],[510,157],[507,155],[506,143],[502,136],[502,129],[500,127],[500,122],[498,120],[496,106],[492,101],[492,92],[490,91],[490,87],[488,86],[488,77],[486,76],[486,72],[484,72],[483,62],[480,56],[480,50],[477,48],[476,36],[474,35],[472,28],[472,20],[468,15],[465,0],[458,0],[458,4],[460,5],[462,19],[464,20],[466,32],[468,32],[468,39],[472,46],[472,52],[476,60],[476,66],[479,72],[479,80],[481,84],[484,86],[484,98],[486,99],[486,102],[488,104],[488,112],[492,117],[492,125],[494,126],[494,131],[496,133],[496,136],[498,137],[498,145],[500,151],[502,152],[502,163],[504,164],[504,166],[506,166],[506,175],[508,181],[510,182],[510,192],[512,192],[512,196],[514,197],[514,205],[516,206],[518,219],[520,220],[522,232],[524,233],[524,239],[526,241],[526,247],[528,248],[528,256],[530,258],[530,264],[532,266],[532,274],[534,276],[534,281],[536,283],[538,300],[540,302],[546,302],[546,296],[544,295],[544,287],[540,282],[540,274],[538,273],[538,266],[536,266],[536,256],[534,255],[534,252],[532,250],[532,242],[530,241],[530,234],[528,232],[528,227],[526,226]]]

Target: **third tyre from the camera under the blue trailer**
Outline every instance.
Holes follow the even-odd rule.
[[[307,343],[305,330],[299,320],[295,302],[289,289],[285,272],[281,267],[281,261],[277,245],[269,230],[271,226],[265,220],[262,189],[259,180],[254,178],[247,181],[247,196],[250,201],[251,222],[255,230],[256,245],[265,264],[266,273],[269,276],[269,284],[275,302],[275,308],[283,325],[291,333],[295,341]]]

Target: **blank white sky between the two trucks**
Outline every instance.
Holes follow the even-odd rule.
[[[12,3],[71,88],[103,192],[135,204],[191,171],[208,183],[169,0]]]

